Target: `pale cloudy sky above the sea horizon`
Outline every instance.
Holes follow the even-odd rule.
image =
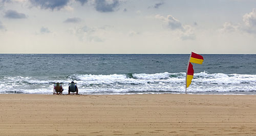
[[[256,54],[253,0],[0,0],[0,53]]]

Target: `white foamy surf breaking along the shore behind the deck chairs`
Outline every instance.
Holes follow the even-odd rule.
[[[52,78],[51,78],[52,79]],[[61,78],[58,78],[61,79]],[[67,92],[68,83],[74,80],[80,94],[143,94],[184,93],[185,73],[156,74],[112,74],[112,75],[70,75],[66,79],[49,80],[36,77],[2,77],[0,94],[28,93],[51,94],[53,82],[63,83]],[[256,75],[195,73],[189,88],[190,93],[244,94],[256,92]]]

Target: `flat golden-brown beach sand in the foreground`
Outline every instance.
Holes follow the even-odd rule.
[[[254,95],[0,95],[0,135],[256,135]]]

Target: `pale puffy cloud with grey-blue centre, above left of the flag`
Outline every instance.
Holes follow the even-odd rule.
[[[172,15],[167,15],[167,17],[156,15],[155,18],[163,21],[164,28],[177,32],[182,40],[196,38],[193,27],[182,25],[181,22]]]

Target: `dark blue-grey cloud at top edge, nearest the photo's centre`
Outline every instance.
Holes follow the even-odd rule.
[[[106,1],[106,0],[95,0],[95,9],[98,12],[113,12],[115,8],[120,5],[118,0]]]

